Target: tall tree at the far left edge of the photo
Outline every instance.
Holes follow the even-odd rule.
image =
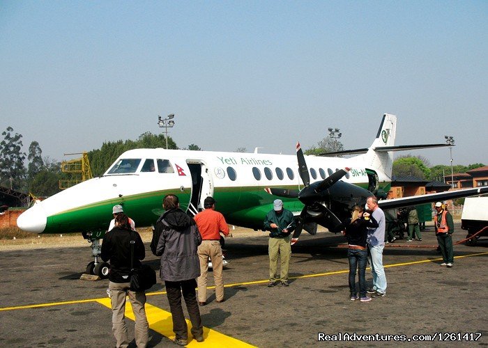
[[[0,184],[18,191],[25,189],[26,168],[25,152],[22,152],[22,134],[12,134],[13,128],[7,127],[3,141],[0,142]]]

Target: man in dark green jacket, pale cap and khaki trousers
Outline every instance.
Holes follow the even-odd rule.
[[[283,202],[277,199],[273,202],[273,210],[264,218],[264,230],[270,231],[268,241],[269,254],[269,283],[268,287],[276,285],[279,279],[281,285],[289,286],[288,269],[291,258],[291,232],[295,230],[293,213],[283,208]],[[277,278],[278,255],[281,258],[280,278]]]

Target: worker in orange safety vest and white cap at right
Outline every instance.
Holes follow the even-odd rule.
[[[454,250],[452,249],[452,233],[454,232],[454,221],[452,215],[448,212],[441,202],[434,206],[437,211],[435,218],[435,228],[437,242],[441,248],[442,260],[441,266],[452,267],[454,264]]]

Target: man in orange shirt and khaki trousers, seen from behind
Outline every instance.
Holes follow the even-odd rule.
[[[227,226],[224,216],[220,212],[215,211],[215,199],[213,197],[208,196],[205,198],[204,208],[204,211],[199,212],[195,216],[195,222],[201,235],[201,244],[198,246],[200,276],[197,278],[199,306],[206,305],[208,258],[210,258],[213,268],[215,302],[221,303],[225,301],[220,233],[226,237],[229,235],[229,226]]]

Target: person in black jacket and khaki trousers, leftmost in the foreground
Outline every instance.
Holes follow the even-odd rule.
[[[127,215],[115,218],[115,227],[107,232],[102,242],[102,260],[110,260],[109,292],[112,299],[112,331],[116,347],[128,347],[129,339],[125,326],[125,296],[129,296],[135,315],[135,343],[137,348],[146,347],[149,325],[146,318],[146,294],[130,290],[130,241],[134,244],[134,267],[140,267],[146,257],[139,233],[132,231]]]

